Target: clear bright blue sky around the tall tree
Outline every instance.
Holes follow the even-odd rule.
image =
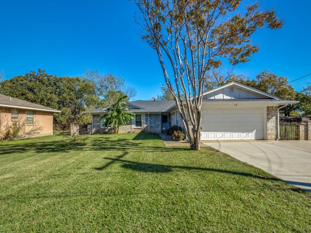
[[[242,4],[249,4],[244,0]],[[262,1],[285,18],[278,30],[258,30],[252,43],[260,51],[234,73],[254,78],[266,69],[289,81],[311,73],[311,1]],[[0,71],[6,78],[38,68],[52,75],[81,75],[98,69],[125,79],[137,89],[136,99],[160,93],[164,82],[157,55],[139,38],[136,7],[118,1],[1,1]],[[228,64],[224,64],[224,69]],[[292,83],[300,90],[311,75]]]

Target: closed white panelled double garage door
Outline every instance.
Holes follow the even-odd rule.
[[[263,139],[262,108],[202,108],[202,140]]]

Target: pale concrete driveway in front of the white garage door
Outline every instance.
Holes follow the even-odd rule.
[[[205,141],[204,144],[311,192],[311,141]]]

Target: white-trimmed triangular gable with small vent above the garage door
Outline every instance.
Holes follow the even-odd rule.
[[[229,89],[233,87],[233,89]],[[233,92],[231,93],[230,90]],[[233,81],[203,93],[204,99],[282,99],[256,88]]]

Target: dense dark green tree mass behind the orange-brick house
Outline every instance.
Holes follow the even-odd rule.
[[[81,116],[81,113],[87,106],[100,106],[101,100],[92,87],[92,83],[86,78],[58,77],[38,69],[37,72],[31,71],[9,80],[2,80],[0,93],[61,110],[66,114],[54,114],[54,123],[65,126],[64,117],[67,117],[67,124],[82,122],[81,119],[87,120],[84,123],[91,122],[90,119]]]

